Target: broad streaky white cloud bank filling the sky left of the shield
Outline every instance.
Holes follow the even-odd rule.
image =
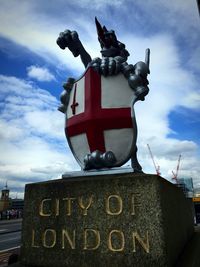
[[[61,177],[78,169],[64,136],[64,116],[47,91],[15,77],[0,76],[4,98],[0,119],[0,174],[5,183],[25,183]],[[39,171],[40,170],[40,171]]]

